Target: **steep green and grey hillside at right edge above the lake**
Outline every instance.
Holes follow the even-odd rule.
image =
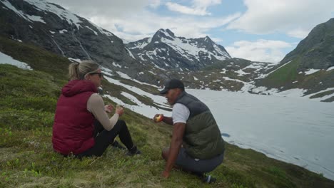
[[[256,81],[266,88],[300,88],[310,98],[333,101],[334,93],[334,19],[321,23],[283,58],[276,69]],[[318,95],[315,95],[318,94]]]

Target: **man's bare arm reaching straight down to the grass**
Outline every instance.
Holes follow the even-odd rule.
[[[165,170],[163,171],[164,177],[169,176],[169,172],[171,172],[171,169],[173,168],[176,162],[176,158],[178,157],[178,152],[180,151],[182,145],[182,139],[185,130],[186,130],[186,123],[176,122],[174,124],[171,147],[169,147],[168,160],[166,162]]]

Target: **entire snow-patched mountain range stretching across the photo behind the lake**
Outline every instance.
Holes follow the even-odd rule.
[[[71,61],[92,59],[125,79],[160,86],[178,78],[189,88],[262,94],[298,89],[310,98],[334,93],[333,19],[315,27],[275,65],[231,58],[208,36],[184,38],[169,29],[124,44],[113,33],[46,0],[0,0],[0,10],[1,38],[30,43]]]

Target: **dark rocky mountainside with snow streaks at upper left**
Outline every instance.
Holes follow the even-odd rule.
[[[0,34],[70,59],[121,69],[136,63],[121,38],[44,0],[0,0]],[[130,71],[131,72],[131,71]],[[135,72],[135,71],[132,71]]]

